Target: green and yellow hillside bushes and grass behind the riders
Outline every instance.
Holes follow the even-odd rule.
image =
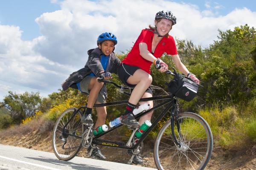
[[[203,87],[191,102],[180,100],[182,110],[196,112],[206,119],[214,135],[215,147],[227,150],[248,150],[256,145],[256,30],[244,25],[225,32],[218,40],[202,49],[189,40],[176,40],[181,61],[197,75]],[[118,55],[120,60],[125,53]],[[172,58],[162,60],[174,66]],[[76,71],[76,70],[74,70]],[[151,68],[153,85],[167,91],[165,83],[172,77]],[[121,84],[116,76],[113,81]],[[116,88],[108,85],[108,101],[127,100]],[[75,89],[59,90],[41,98],[39,93],[9,92],[1,104],[1,135],[15,124],[29,129],[31,122],[40,122],[41,133],[51,130],[58,115],[69,107],[85,105],[87,96]],[[6,107],[9,111],[2,111]],[[108,123],[122,113],[124,106],[107,108]],[[4,112],[4,113],[3,113]],[[96,120],[96,116],[93,117]],[[158,127],[160,128],[160,126]],[[32,129],[29,129],[32,130]],[[157,130],[151,133],[153,138]],[[13,133],[15,133],[13,131]],[[19,132],[22,133],[22,132]],[[25,131],[23,133],[26,133]]]

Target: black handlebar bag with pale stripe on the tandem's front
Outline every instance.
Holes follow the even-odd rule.
[[[168,90],[177,98],[191,101],[198,92],[198,85],[186,76],[176,72],[174,79],[168,83]]]

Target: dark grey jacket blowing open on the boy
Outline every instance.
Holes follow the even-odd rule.
[[[84,68],[79,69],[76,72],[73,72],[62,84],[63,90],[67,90],[69,87],[78,89],[76,84],[79,83],[84,77],[90,75],[93,72],[97,77],[100,76],[100,72],[104,71],[101,64],[101,55],[102,52],[99,48],[90,49],[87,54],[89,55],[88,61],[86,62]],[[109,56],[108,66],[106,72],[111,72],[117,74],[117,69],[120,65],[119,58],[112,52]],[[107,88],[104,85],[101,89],[101,92],[107,97]]]

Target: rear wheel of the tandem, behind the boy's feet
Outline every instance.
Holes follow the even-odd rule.
[[[74,158],[76,154],[81,149],[81,138],[76,138],[74,136],[68,135],[64,137],[62,135],[63,127],[70,119],[71,115],[76,108],[68,108],[58,117],[52,132],[52,149],[57,156],[58,159],[63,161],[69,161]],[[81,136],[84,132],[84,126],[81,123],[81,112],[77,112],[73,119],[67,124],[66,130],[68,133],[76,134]],[[80,122],[80,123],[79,123]],[[77,128],[76,128],[77,127]],[[64,141],[67,143],[64,145],[64,149],[62,148]]]

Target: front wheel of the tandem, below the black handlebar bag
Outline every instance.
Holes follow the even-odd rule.
[[[176,118],[180,123],[178,135],[175,120],[175,135],[172,136],[171,120],[161,127],[154,144],[154,161],[158,170],[204,170],[212,155],[213,137],[207,122],[200,115],[183,112]]]

